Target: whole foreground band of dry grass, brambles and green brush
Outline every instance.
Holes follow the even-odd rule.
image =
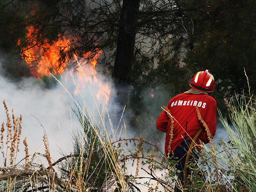
[[[104,118],[95,121],[95,117],[86,110],[85,103],[85,106],[77,105],[73,110],[82,129],[73,134],[74,149],[70,155],[63,155],[58,161],[51,162],[47,136],[44,135],[45,154],[29,155],[24,138],[25,157],[16,163],[18,160],[15,154],[21,148],[19,138],[22,118],[16,118],[12,110],[11,121],[9,107],[4,102],[7,123],[6,126],[3,123],[1,129],[4,164],[1,167],[0,186],[6,191],[26,192],[46,189],[126,192],[142,191],[142,188],[147,188],[147,191],[167,192],[174,191],[174,187],[182,192],[255,191],[254,100],[252,97],[244,97],[244,103],[239,106],[232,105],[233,101],[226,102],[236,132],[222,118],[230,141],[220,140],[218,144],[211,142],[210,148],[204,146],[199,162],[187,164],[192,175],[188,174],[183,184],[176,175],[177,160],[164,156],[157,142],[147,142],[147,132],[131,139],[120,136],[115,139],[115,134],[109,134],[112,128],[109,129],[103,124]],[[99,114],[104,113],[99,111]],[[198,117],[200,119],[200,114]],[[124,121],[120,121],[121,130],[125,131],[125,123],[121,122]],[[207,129],[207,125],[204,128]],[[5,130],[8,134],[4,137]],[[45,158],[48,166],[36,164],[36,156]]]

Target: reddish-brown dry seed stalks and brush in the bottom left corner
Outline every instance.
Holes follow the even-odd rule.
[[[54,191],[60,191],[61,188],[65,188],[65,182],[60,179],[56,173],[49,172],[49,170],[43,168],[33,162],[36,153],[29,159],[28,144],[26,137],[23,140],[25,158],[20,160],[16,164],[17,153],[20,152],[20,136],[21,136],[21,115],[16,117],[13,109],[12,121],[10,118],[8,106],[4,103],[4,109],[6,113],[7,122],[2,124],[1,127],[1,149],[3,151],[4,164],[1,167],[0,174],[0,190],[2,191],[38,191],[43,189],[54,189]],[[5,133],[6,131],[6,133]],[[4,136],[4,133],[6,136]],[[49,148],[46,142],[46,135],[43,137],[45,144],[46,157],[49,163],[49,167],[52,167]],[[3,149],[6,148],[6,152]],[[24,164],[22,164],[25,160]],[[20,169],[21,168],[21,169]],[[43,168],[43,169],[42,169]],[[56,185],[58,183],[58,185]],[[56,189],[56,190],[55,190]],[[61,190],[62,191],[62,190]]]

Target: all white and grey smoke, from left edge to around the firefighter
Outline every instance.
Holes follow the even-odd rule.
[[[97,76],[97,78],[101,83],[106,82],[106,77]],[[5,100],[6,104],[10,107],[10,115],[12,108],[16,116],[19,116],[20,114],[22,115],[20,153],[17,156],[16,163],[25,157],[25,152],[23,151],[24,146],[22,143],[24,136],[27,138],[29,154],[33,154],[35,152],[41,154],[45,153],[42,138],[44,130],[48,138],[52,162],[62,157],[60,151],[67,155],[72,151],[72,131],[77,129],[81,130],[81,125],[77,121],[77,118],[71,109],[71,107],[76,109],[72,96],[74,96],[75,100],[79,102],[81,106],[84,104],[79,93],[78,96],[74,95],[76,87],[71,80],[70,74],[63,75],[61,83],[68,89],[71,96],[59,83],[51,89],[46,89],[42,87],[40,81],[35,77],[23,78],[20,82],[14,83],[11,82],[10,79],[0,75],[1,103]],[[91,86],[92,94],[94,96],[97,94],[98,89],[98,87]],[[87,86],[82,88],[82,96],[85,97],[87,107],[91,110],[93,116],[98,119],[99,113],[96,105],[101,112],[104,106],[104,98],[97,100],[95,97],[94,99],[96,103],[94,103],[92,94]],[[148,95],[151,95],[151,93],[149,92]],[[162,95],[168,94],[163,93]],[[139,122],[141,123],[139,130],[135,131],[129,127],[130,125],[127,125],[127,127],[129,127],[126,129],[127,138],[140,136],[143,130],[145,130],[146,140],[153,143],[156,143],[157,141],[160,143],[158,146],[159,149],[164,151],[165,134],[156,129],[155,123],[157,116],[162,112],[161,107],[166,105],[170,99],[171,98],[161,97],[161,99],[157,99],[158,102],[155,104],[148,105],[148,102],[145,103],[145,106],[148,107],[147,110],[153,111],[153,113],[151,116],[145,115],[139,118]],[[162,103],[159,103],[159,101]],[[4,122],[4,124],[6,124],[4,105],[1,103],[0,123],[2,124]],[[110,106],[108,106],[108,108],[109,107]],[[110,130],[110,134],[112,134],[112,130]],[[123,138],[125,137],[124,134],[121,135]],[[119,135],[119,132],[117,132],[117,135]],[[214,142],[217,142],[220,138],[228,140],[228,135],[224,130],[224,127],[221,124],[218,124]],[[4,148],[4,152],[5,151],[6,148]],[[44,158],[41,158],[41,160],[45,162],[45,166],[48,166]],[[3,165],[3,162],[4,159],[0,157],[0,164]]]

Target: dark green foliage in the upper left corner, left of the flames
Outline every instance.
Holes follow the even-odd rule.
[[[3,73],[12,80],[30,76],[27,64],[20,56],[19,39],[25,41],[31,1],[0,2],[0,53]],[[11,74],[11,75],[10,75]]]

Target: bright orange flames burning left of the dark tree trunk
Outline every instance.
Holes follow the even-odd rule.
[[[28,37],[31,36],[34,29],[32,27],[28,28],[29,34]],[[53,45],[46,44],[48,50],[44,52],[44,49],[39,46],[31,46],[31,48],[24,48],[22,52],[23,59],[27,62],[28,67],[30,67],[31,74],[36,76],[37,78],[42,76],[50,76],[50,72],[53,74],[63,74],[66,65],[59,66],[58,60],[59,60],[59,48],[64,47],[63,51],[65,49],[68,49],[68,42],[69,40],[65,37],[62,37],[58,42],[56,42]],[[20,41],[18,41],[18,44],[20,44]],[[35,45],[36,42],[33,42]],[[38,60],[40,54],[44,52],[44,55],[41,56],[40,60]],[[88,55],[88,53],[85,53],[84,56]],[[97,58],[100,56],[100,52],[96,54],[96,56],[90,60],[89,65],[83,66],[81,68],[78,68],[78,72],[76,73],[77,77],[79,78],[79,89],[84,90],[85,83],[83,78],[86,78],[90,86],[97,86],[98,92],[95,94],[97,99],[105,98],[106,102],[108,102],[109,94],[110,94],[110,88],[107,83],[102,83],[97,78],[97,71],[95,70],[95,66],[97,65]],[[76,56],[75,56],[76,57]],[[38,62],[36,67],[34,66],[34,63]],[[84,77],[85,76],[85,77]],[[78,90],[76,89],[74,91],[74,95],[78,94]]]

